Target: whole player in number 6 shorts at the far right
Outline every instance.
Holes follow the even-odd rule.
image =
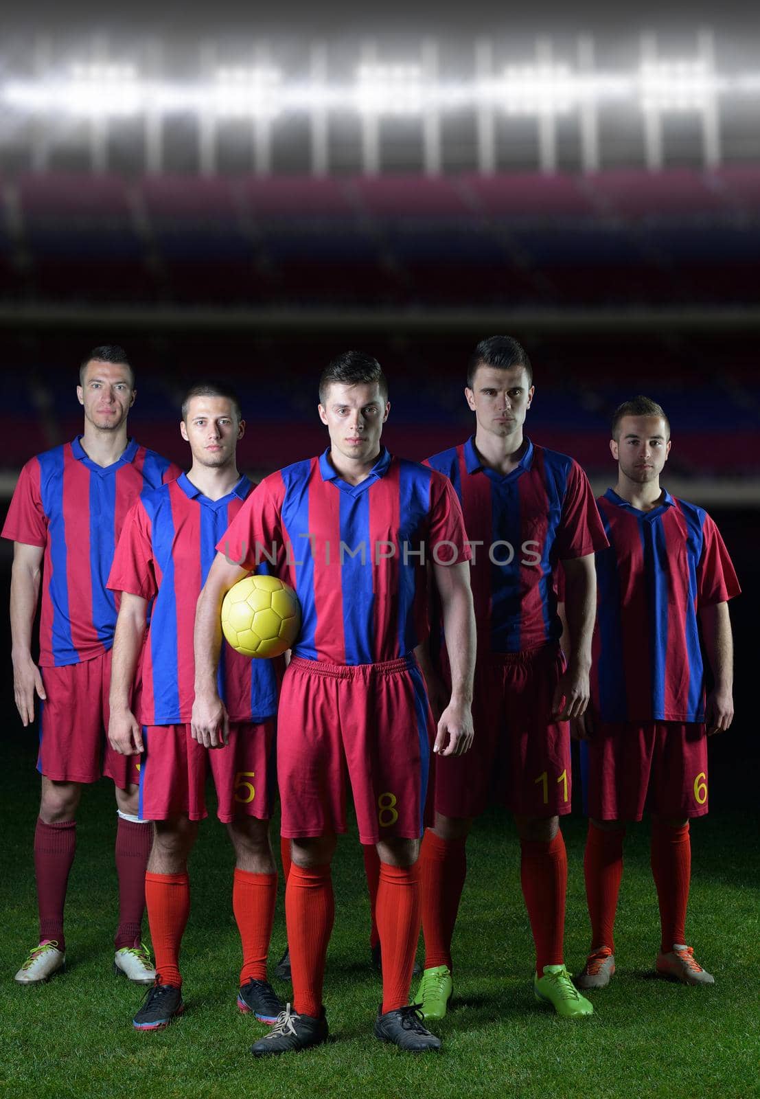
[[[647,808],[662,932],[655,967],[685,985],[712,985],[684,930],[689,822],[707,812],[707,736],[734,718],[728,600],[739,585],[709,515],[660,486],[670,453],[660,406],[647,397],[621,404],[610,448],[617,484],[596,501],[610,548],[596,554],[592,701],[575,722],[592,929],[578,984],[603,988],[615,972],[623,839],[626,822]],[[713,675],[706,704],[700,633]]]

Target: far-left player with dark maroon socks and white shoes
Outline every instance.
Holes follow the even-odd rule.
[[[136,815],[137,759],[118,756],[104,737],[116,624],[116,603],[105,581],[133,502],[180,470],[127,437],[135,396],[135,374],[124,348],[91,351],[79,368],[77,387],[83,432],[26,463],[2,531],[14,542],[13,686],[24,726],[34,721],[35,695],[41,699],[42,799],[34,833],[40,943],[15,975],[22,985],[47,980],[64,968],[64,903],[81,787],[101,774],[113,779],[116,793],[114,968],[139,984],[155,977],[141,945],[145,864],[153,836]],[[41,588],[37,666],[31,650]]]

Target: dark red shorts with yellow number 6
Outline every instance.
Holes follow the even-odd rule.
[[[702,724],[652,721],[594,726],[581,742],[584,809],[601,821],[707,812],[707,736]]]

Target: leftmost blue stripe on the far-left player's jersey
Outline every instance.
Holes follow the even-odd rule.
[[[68,581],[66,564],[66,524],[62,506],[64,493],[64,448],[56,446],[54,451],[41,454],[40,491],[42,506],[48,520],[48,539],[51,554],[51,575],[46,577],[47,590],[53,607],[53,626],[51,647],[56,667],[78,660],[77,651],[71,639],[69,620]],[[90,475],[91,476],[91,475]]]

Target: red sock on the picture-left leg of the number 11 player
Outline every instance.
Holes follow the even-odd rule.
[[[425,968],[451,965],[451,937],[467,877],[467,837],[442,840],[426,829],[420,851]]]

